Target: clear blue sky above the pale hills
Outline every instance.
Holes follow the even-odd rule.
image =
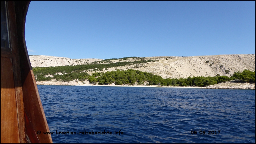
[[[31,1],[29,55],[255,54],[255,1]]]

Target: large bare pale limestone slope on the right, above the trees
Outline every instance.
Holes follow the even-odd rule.
[[[209,63],[206,63],[209,61]],[[212,64],[214,63],[214,64]],[[212,66],[209,66],[212,64]],[[151,72],[166,78],[187,78],[189,76],[232,76],[234,72],[244,69],[255,71],[255,54],[248,55],[214,55],[176,57],[145,64],[146,67],[133,68]],[[229,70],[225,73],[225,70]]]

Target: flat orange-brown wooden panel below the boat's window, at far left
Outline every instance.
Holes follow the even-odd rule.
[[[12,59],[1,57],[1,143],[20,143]]]

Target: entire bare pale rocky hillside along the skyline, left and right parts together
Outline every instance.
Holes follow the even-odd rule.
[[[134,69],[166,78],[187,78],[189,76],[232,76],[234,72],[242,72],[244,69],[255,71],[255,54],[247,55],[214,55],[193,57],[138,57],[129,59],[70,59],[65,57],[29,56],[32,67],[48,67],[76,64],[107,64],[136,60],[156,60],[145,64],[126,65],[115,68],[103,69],[100,72],[113,71],[116,69]],[[93,73],[94,71],[87,71]]]

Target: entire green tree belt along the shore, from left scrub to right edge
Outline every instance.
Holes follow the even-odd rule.
[[[44,69],[44,68],[43,68]],[[37,71],[38,72],[38,69]],[[60,71],[58,71],[60,72]],[[68,72],[65,70],[64,72]],[[56,73],[56,72],[54,72]],[[47,73],[51,74],[51,73]],[[53,75],[53,74],[52,74]],[[37,81],[41,80],[51,80],[51,77],[45,78],[43,75],[36,75]],[[116,85],[123,84],[135,84],[138,85],[144,84],[145,81],[148,81],[148,85],[159,85],[159,86],[199,86],[206,87],[208,85],[214,85],[217,83],[222,83],[229,80],[236,80],[239,82],[254,82],[255,83],[255,71],[244,70],[242,73],[235,72],[232,77],[228,76],[220,76],[217,75],[215,77],[188,77],[188,78],[180,78],[180,79],[163,79],[161,76],[154,75],[149,72],[141,72],[138,70],[116,70],[111,72],[95,72],[90,76],[86,72],[82,72],[82,70],[75,70],[73,72],[69,72],[67,74],[59,75],[56,74],[53,76],[54,79],[62,80],[62,81],[70,81],[78,79],[80,81],[89,80],[90,83],[99,85],[106,85],[115,83]],[[39,79],[39,80],[38,80]]]

